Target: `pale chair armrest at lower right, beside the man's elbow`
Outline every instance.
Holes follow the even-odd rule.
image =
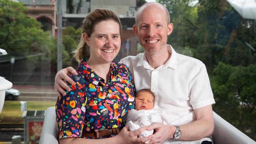
[[[215,112],[213,112],[213,119],[214,130],[212,138],[214,144],[256,144],[254,140],[229,124]]]

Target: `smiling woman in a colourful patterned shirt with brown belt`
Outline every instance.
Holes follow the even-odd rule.
[[[134,108],[135,89],[128,67],[111,63],[121,46],[120,32],[119,18],[108,9],[95,9],[83,20],[74,55],[78,76],[69,76],[75,82],[68,83],[72,90],[56,102],[60,143],[132,143],[151,138],[137,138],[147,127],[121,130]]]

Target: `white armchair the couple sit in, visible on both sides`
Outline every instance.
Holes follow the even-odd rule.
[[[214,144],[256,144],[254,140],[229,124],[215,112],[213,112],[213,119],[214,131],[212,137]],[[39,144],[58,144],[57,138],[55,107],[49,107],[46,110]]]

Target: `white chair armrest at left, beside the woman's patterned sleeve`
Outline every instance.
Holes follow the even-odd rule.
[[[46,109],[39,144],[59,144],[57,136],[55,107],[49,107]]]

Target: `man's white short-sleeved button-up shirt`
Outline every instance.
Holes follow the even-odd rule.
[[[152,68],[144,53],[121,59],[134,78],[136,91],[150,89],[163,124],[183,125],[196,120],[194,109],[215,103],[205,65],[198,59],[178,54],[171,45],[170,59]]]

